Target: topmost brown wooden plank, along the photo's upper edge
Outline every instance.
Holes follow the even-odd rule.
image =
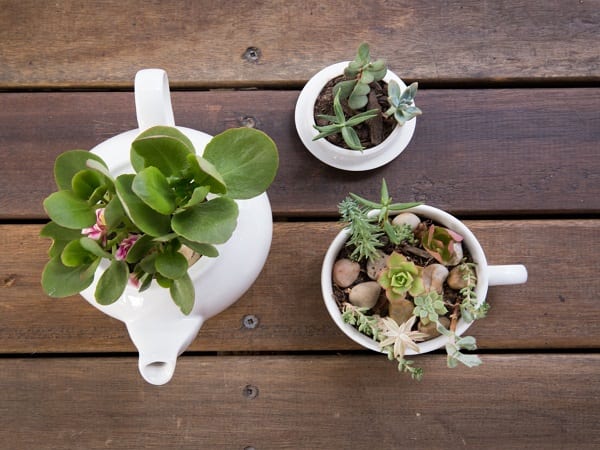
[[[363,41],[423,83],[600,80],[597,0],[0,6],[0,88],[129,87],[142,67],[167,69],[174,86],[298,85]]]

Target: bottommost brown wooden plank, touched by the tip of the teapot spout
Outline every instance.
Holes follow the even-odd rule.
[[[452,370],[435,355],[422,366],[418,383],[377,355],[184,356],[158,388],[133,357],[0,359],[0,439],[48,449],[600,445],[600,355],[486,355]]]

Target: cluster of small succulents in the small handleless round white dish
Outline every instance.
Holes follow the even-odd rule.
[[[380,134],[384,120],[390,119],[394,124],[402,126],[422,114],[414,105],[418,83],[412,83],[404,90],[394,80],[384,83],[383,78],[387,71],[385,61],[372,61],[369,45],[362,43],[354,60],[344,69],[342,79],[331,89],[333,101],[330,109],[334,114],[316,114],[316,118],[321,119],[321,122],[314,125],[319,134],[313,140],[341,134],[349,149],[362,151],[365,146],[355,131],[357,126],[366,124],[368,128],[378,129],[379,131],[374,132],[370,138],[370,144],[377,145],[383,139]],[[387,92],[382,102],[375,95],[376,88]],[[346,118],[346,114],[350,117]]]

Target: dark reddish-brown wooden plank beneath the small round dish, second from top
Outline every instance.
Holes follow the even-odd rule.
[[[273,137],[278,217],[329,216],[348,192],[459,215],[600,213],[600,89],[423,90],[413,141],[387,166],[344,172],[304,148],[297,91],[174,92],[177,123],[219,133],[249,122]],[[0,94],[0,220],[43,219],[56,156],[136,127],[132,93]],[[308,182],[307,180],[311,180]]]

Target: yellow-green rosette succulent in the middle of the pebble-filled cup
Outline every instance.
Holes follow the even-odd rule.
[[[385,294],[390,301],[403,299],[406,293],[414,297],[425,290],[421,271],[421,267],[408,261],[401,253],[392,252],[386,268],[377,281],[385,289]]]

